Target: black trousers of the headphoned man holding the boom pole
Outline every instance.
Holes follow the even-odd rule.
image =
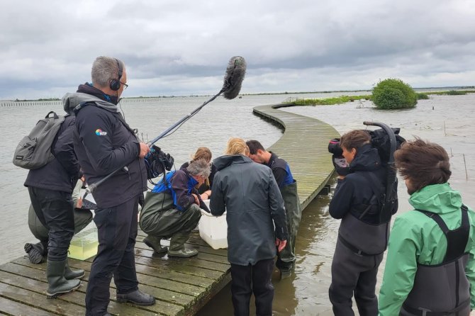
[[[91,265],[86,291],[86,315],[104,315],[109,303],[113,276],[117,293],[138,289],[135,273],[135,238],[139,196],[113,208],[96,210],[99,247]]]

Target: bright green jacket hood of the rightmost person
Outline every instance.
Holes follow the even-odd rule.
[[[413,193],[409,203],[419,210],[444,214],[460,210],[462,196],[458,191],[452,190],[448,183],[431,184]]]

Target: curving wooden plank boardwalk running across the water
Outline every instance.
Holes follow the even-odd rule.
[[[322,190],[333,174],[328,154],[328,140],[337,137],[330,125],[278,110],[281,106],[257,106],[254,113],[273,120],[284,128],[284,135],[269,149],[286,159],[298,181],[298,195],[305,208]],[[154,295],[157,303],[138,307],[116,302],[116,289],[111,282],[113,315],[194,315],[208,300],[230,282],[230,266],[226,249],[212,249],[197,232],[187,247],[197,249],[198,256],[169,259],[156,256],[143,244],[139,231],[135,244],[135,266],[140,289]],[[163,241],[165,244],[167,241]],[[91,271],[91,259],[69,259],[69,265],[86,271],[82,286],[57,299],[46,298],[46,265],[31,264],[26,256],[0,266],[0,315],[84,315],[84,298]]]

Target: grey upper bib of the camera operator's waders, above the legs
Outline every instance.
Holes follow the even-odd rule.
[[[373,196],[367,205],[358,205],[342,219],[338,238],[356,254],[364,256],[381,254],[386,250],[389,240],[389,220],[381,220],[381,213],[384,212],[381,200],[384,200],[385,188],[373,172],[360,171],[357,174],[367,179]],[[377,218],[376,222],[365,221],[365,215]]]

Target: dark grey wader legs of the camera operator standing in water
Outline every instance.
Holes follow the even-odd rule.
[[[378,315],[376,274],[384,254],[355,254],[337,240],[332,261],[332,283],[328,291],[336,316],[353,316],[352,296],[359,315]]]

